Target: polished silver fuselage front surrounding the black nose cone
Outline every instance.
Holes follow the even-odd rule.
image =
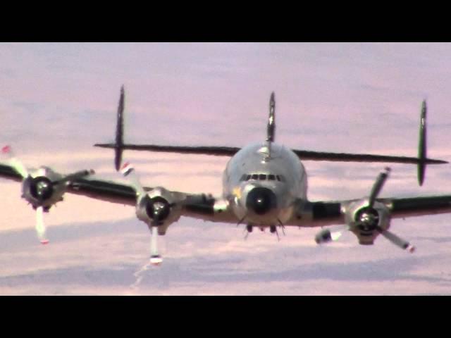
[[[264,179],[247,180],[249,175],[262,175]],[[278,179],[269,180],[269,175]],[[247,195],[256,187],[271,189],[276,196],[276,207],[264,215],[252,213],[246,205]],[[230,158],[223,173],[223,198],[242,223],[283,225],[292,218],[295,202],[307,201],[307,173],[299,157],[285,146],[251,144]]]

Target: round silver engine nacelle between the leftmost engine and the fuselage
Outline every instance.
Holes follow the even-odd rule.
[[[181,215],[181,206],[176,196],[163,187],[156,187],[137,201],[136,215],[149,226],[158,227],[159,234],[166,234],[169,225],[177,222]]]

